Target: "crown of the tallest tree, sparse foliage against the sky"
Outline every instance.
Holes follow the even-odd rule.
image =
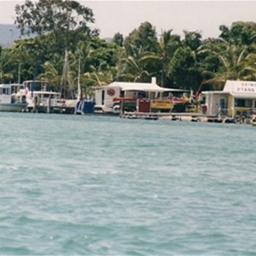
[[[71,0],[26,0],[15,7],[15,24],[21,35],[50,34],[55,49],[69,49],[79,40],[81,33],[91,34],[89,23],[94,23],[91,9]]]

